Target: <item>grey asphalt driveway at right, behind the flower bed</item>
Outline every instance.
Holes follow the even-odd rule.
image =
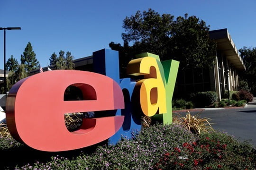
[[[186,110],[177,112],[185,115]],[[256,147],[256,98],[245,107],[190,110],[192,115],[199,112],[201,112],[201,118],[211,119],[210,123],[213,123],[212,127],[215,130],[235,136],[238,141],[247,140]]]

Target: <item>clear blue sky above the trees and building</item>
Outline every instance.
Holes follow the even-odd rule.
[[[110,49],[110,42],[123,43],[123,19],[148,8],[175,18],[197,16],[210,30],[228,28],[238,49],[256,47],[256,0],[0,0],[0,27],[21,27],[6,31],[6,60],[13,55],[20,62],[27,42],[42,67],[60,50],[78,59]]]

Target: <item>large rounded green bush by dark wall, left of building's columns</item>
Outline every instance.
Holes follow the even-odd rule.
[[[218,95],[216,92],[198,92],[192,96],[192,102],[194,102],[197,107],[210,106],[218,100]]]

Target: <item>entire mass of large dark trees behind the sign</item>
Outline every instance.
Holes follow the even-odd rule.
[[[114,42],[109,44],[112,50],[122,51],[120,59],[151,52],[162,60],[180,61],[180,68],[209,68],[213,65],[215,58],[212,54],[216,43],[210,39],[209,26],[195,16],[185,14],[174,20],[170,14],[160,16],[149,8],[143,13],[137,11],[134,16],[126,17],[123,28],[126,31],[122,33],[124,46]],[[128,42],[133,42],[132,46]]]

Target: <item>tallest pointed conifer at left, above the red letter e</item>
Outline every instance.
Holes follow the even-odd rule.
[[[20,57],[21,64],[24,64],[27,74],[34,69],[39,67],[39,62],[36,58],[36,53],[33,51],[33,47],[30,42],[27,43],[27,46],[23,52],[23,55]]]

